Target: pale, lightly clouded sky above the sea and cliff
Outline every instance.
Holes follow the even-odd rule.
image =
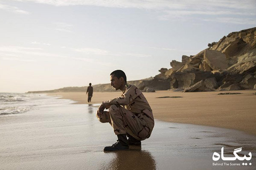
[[[154,77],[253,27],[256,0],[0,0],[0,92]]]

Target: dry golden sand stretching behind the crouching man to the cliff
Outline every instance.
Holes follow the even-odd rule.
[[[241,93],[217,95],[218,93]],[[242,130],[256,135],[256,95],[253,90],[212,91],[182,93],[157,91],[143,93],[148,99],[155,119],[165,122],[189,123]],[[64,99],[72,99],[77,104],[87,103],[85,93],[53,93]],[[94,92],[92,103],[113,99],[121,95],[117,92]],[[157,98],[180,96],[180,98]]]

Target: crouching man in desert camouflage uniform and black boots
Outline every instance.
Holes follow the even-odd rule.
[[[102,123],[110,123],[117,142],[104,148],[105,151],[129,149],[128,145],[141,145],[142,140],[149,138],[154,127],[152,110],[135,85],[128,85],[126,75],[122,70],[110,74],[113,88],[122,91],[122,96],[102,102],[96,117]],[[104,111],[104,109],[109,111]],[[128,140],[126,138],[128,137]]]

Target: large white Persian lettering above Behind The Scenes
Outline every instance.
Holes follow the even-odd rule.
[[[236,159],[238,159],[239,161],[244,161],[244,160],[247,160],[247,161],[250,161],[252,159],[252,153],[248,153],[248,157],[246,155],[244,156],[239,156],[238,153],[242,151],[242,148],[239,147],[237,149],[234,149],[234,156],[233,157],[225,157],[224,156],[224,147],[221,148],[221,155],[217,152],[214,152],[213,155],[212,155],[212,160],[213,161],[218,161],[220,158],[223,160],[223,161],[235,161]],[[247,163],[245,163],[247,165]],[[243,163],[244,165],[244,163]],[[251,163],[249,163],[249,165],[251,165]]]

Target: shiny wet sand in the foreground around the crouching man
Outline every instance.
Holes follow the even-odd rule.
[[[256,164],[256,136],[200,125],[155,122],[142,147],[103,152],[116,136],[95,116],[97,105],[51,105],[0,116],[2,170],[250,170]],[[232,157],[251,152],[250,161],[212,161],[214,152]],[[231,153],[231,154],[230,154]],[[242,156],[243,156],[242,155]],[[237,163],[213,166],[212,163]],[[242,165],[242,163],[252,165]]]

